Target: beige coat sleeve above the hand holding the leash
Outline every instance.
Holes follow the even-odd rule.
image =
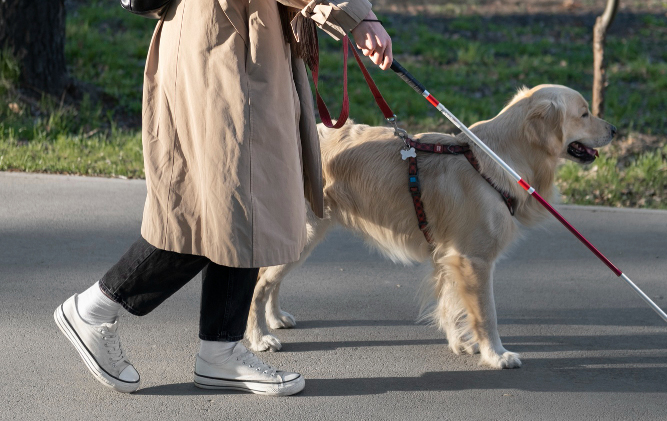
[[[278,0],[285,6],[301,10],[292,21],[292,29],[299,39],[299,21],[310,18],[324,32],[336,40],[354,29],[371,10],[368,0]]]

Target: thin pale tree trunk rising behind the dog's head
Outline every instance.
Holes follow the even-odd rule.
[[[607,77],[604,62],[604,44],[607,29],[614,21],[618,10],[618,0],[607,0],[607,7],[598,16],[593,28],[593,115],[602,118],[604,114],[604,90]]]

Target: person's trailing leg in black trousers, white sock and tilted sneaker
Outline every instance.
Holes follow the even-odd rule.
[[[118,309],[109,298],[133,314],[146,314],[192,279],[206,262],[208,259],[199,256],[158,250],[140,238],[100,280],[99,286],[96,283],[92,290],[74,294],[58,306],[54,313],[56,324],[96,380],[119,392],[134,392],[139,388],[139,374],[121,347]],[[85,300],[94,302],[85,305]],[[84,311],[88,316],[94,316],[88,318],[90,322],[81,317],[80,307],[88,309]],[[99,320],[105,317],[108,320]]]

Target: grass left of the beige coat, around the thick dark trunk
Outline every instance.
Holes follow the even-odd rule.
[[[0,55],[0,171],[143,177],[140,130],[119,127],[115,115],[141,114],[142,70],[154,25],[104,1],[68,11],[68,71],[99,87],[112,105],[88,95],[76,105],[26,96],[14,88],[16,61]]]

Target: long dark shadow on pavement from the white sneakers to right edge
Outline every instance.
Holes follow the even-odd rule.
[[[618,364],[634,358],[614,358]],[[642,360],[646,360],[642,358]],[[664,358],[652,358],[665,365]],[[427,372],[419,377],[374,377],[307,379],[299,396],[360,396],[388,392],[522,390],[531,392],[667,392],[665,367],[609,367],[607,358],[530,360],[528,369]],[[605,364],[604,367],[585,365]],[[613,365],[613,364],[612,364]],[[243,393],[196,388],[192,383],[176,383],[139,390],[137,395],[220,395]]]

